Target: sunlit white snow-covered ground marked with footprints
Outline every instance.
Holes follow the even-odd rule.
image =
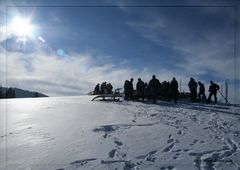
[[[240,169],[239,106],[92,97],[1,100],[0,169]]]

